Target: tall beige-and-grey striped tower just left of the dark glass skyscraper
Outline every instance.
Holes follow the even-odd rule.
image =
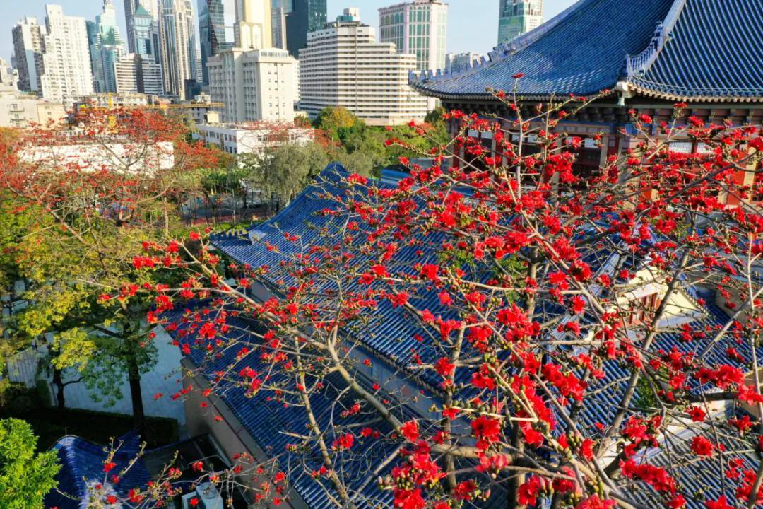
[[[191,0],[163,0],[159,46],[164,89],[181,100],[192,97],[201,83],[201,48],[196,37]]]

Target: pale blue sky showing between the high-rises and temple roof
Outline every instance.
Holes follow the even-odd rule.
[[[193,0],[197,2],[198,0]],[[329,19],[336,18],[343,8],[360,9],[362,21],[378,25],[378,8],[401,0],[328,0]],[[545,0],[546,19],[572,5],[575,0]],[[0,0],[0,56],[10,62],[13,53],[11,27],[21,18],[36,16],[43,23],[45,4],[63,5],[64,14],[94,19],[101,12],[103,0]],[[448,51],[487,53],[494,47],[498,34],[499,0],[449,0]],[[124,0],[114,0],[124,37]]]

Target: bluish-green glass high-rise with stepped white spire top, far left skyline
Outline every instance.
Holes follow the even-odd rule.
[[[96,93],[117,92],[114,65],[127,53],[117,26],[117,11],[103,0],[103,12],[87,22],[93,87]]]

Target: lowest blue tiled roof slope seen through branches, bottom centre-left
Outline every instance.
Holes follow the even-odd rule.
[[[169,330],[175,339],[180,342],[195,339],[194,332],[197,330],[198,322],[195,320],[196,314],[192,311],[172,311],[165,317],[169,322],[179,325],[176,330]],[[230,332],[224,334],[224,337],[228,340],[236,340],[241,346],[249,344],[253,352],[256,350],[259,339],[253,336],[253,333],[265,332],[266,329],[261,324],[241,316],[228,316],[225,322],[230,326]],[[181,332],[183,330],[185,333]],[[243,359],[237,359],[237,352],[238,350],[233,351],[231,348],[215,350],[214,358],[210,359],[204,355],[202,349],[193,348],[188,358],[200,366],[204,375],[210,379],[215,377],[217,373],[228,369],[231,372],[240,372],[245,368],[254,369],[258,373],[268,372],[269,366],[260,362],[259,355],[247,355]],[[279,370],[270,372],[269,383],[278,385],[280,381],[285,379],[285,376]],[[339,473],[351,494],[358,491],[356,505],[363,508],[391,507],[390,491],[381,491],[375,482],[370,482],[369,485],[365,486],[363,484],[367,480],[365,473],[375,471],[377,466],[394,449],[397,449],[397,441],[385,440],[384,438],[389,436],[393,431],[392,428],[386,424],[386,421],[376,422],[373,420],[372,417],[375,416],[369,417],[369,411],[365,409],[359,414],[342,416],[342,411],[349,408],[354,401],[344,396],[343,388],[346,387],[346,384],[343,379],[340,375],[332,373],[320,380],[324,382],[325,388],[314,391],[311,394],[310,402],[320,429],[325,431],[324,440],[330,446],[336,437],[348,430],[352,430],[353,435],[355,435],[355,443],[351,451],[344,453],[343,466]],[[314,380],[309,381],[308,378],[308,385],[311,385],[312,382]],[[369,389],[368,386],[366,388]],[[258,391],[250,396],[247,396],[245,392],[244,388],[228,380],[219,382],[215,391],[240,420],[240,423],[256,441],[259,448],[267,455],[270,457],[281,456],[285,453],[287,444],[298,442],[297,438],[289,436],[287,433],[304,436],[309,422],[304,408],[301,408],[301,402],[294,401],[294,404],[285,404],[284,401],[276,401],[272,397],[274,393],[272,390]],[[284,398],[287,400],[288,396],[284,396]],[[391,411],[401,420],[415,417],[405,407],[391,408]],[[362,438],[359,433],[362,424],[377,430],[381,433],[382,438]],[[335,507],[330,501],[327,491],[321,488],[309,475],[311,470],[317,470],[322,465],[323,462],[317,451],[305,453],[304,462],[301,464],[292,464],[291,466],[285,462],[280,464],[282,470],[294,469],[288,476],[291,488],[295,489],[311,509]],[[394,462],[382,469],[379,475],[386,475],[392,466],[394,466]],[[498,495],[493,497],[491,502],[484,507],[502,505],[500,491],[496,491],[496,493]]]

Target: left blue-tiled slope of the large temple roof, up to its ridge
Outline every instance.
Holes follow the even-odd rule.
[[[510,92],[523,73],[523,97],[591,95],[611,89],[623,74],[627,54],[641,52],[670,0],[581,0],[548,23],[504,43],[482,66],[412,84],[442,98],[486,98],[486,89]]]

